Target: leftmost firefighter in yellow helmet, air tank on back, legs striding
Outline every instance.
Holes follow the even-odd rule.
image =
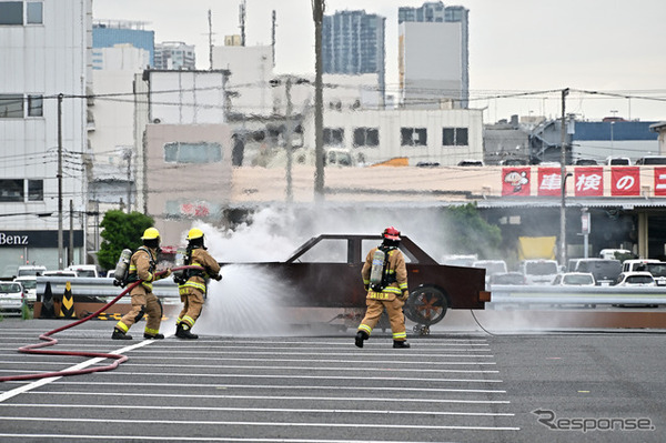
[[[140,321],[143,315],[148,315],[144,339],[164,339],[160,333],[160,323],[162,322],[162,304],[152,293],[152,284],[157,280],[164,279],[171,274],[171,269],[165,272],[157,273],[158,252],[160,250],[160,231],[155,228],[149,228],[141,236],[143,245],[140,246],[130,259],[129,274],[127,283],[133,283],[141,280],[130,291],[132,298],[132,309],[113,328],[113,340],[132,340],[128,331],[132,324]]]

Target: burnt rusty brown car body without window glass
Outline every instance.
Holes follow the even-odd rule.
[[[381,241],[380,235],[323,234],[310,239],[284,262],[243,264],[260,266],[287,285],[289,296],[281,300],[284,305],[364,309],[361,270],[367,252]],[[447,309],[482,310],[490,302],[484,269],[440,264],[408,236],[402,236],[400,250],[410,289],[404,312],[418,325],[427,329],[437,323]]]

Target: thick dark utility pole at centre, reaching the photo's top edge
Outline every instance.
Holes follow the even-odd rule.
[[[324,21],[324,0],[312,0],[314,19],[314,200],[324,200],[324,109],[322,91],[322,22]]]

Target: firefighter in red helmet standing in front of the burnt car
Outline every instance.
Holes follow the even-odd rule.
[[[373,328],[376,326],[385,309],[391,322],[391,331],[393,332],[393,348],[410,348],[405,329],[405,316],[402,311],[410,292],[407,290],[405,258],[397,249],[400,244],[400,231],[393,226],[386,228],[382,232],[382,244],[373,248],[367,253],[363,270],[361,271],[363,284],[367,290],[365,299],[367,309],[365,318],[359,325],[355,344],[359,348],[363,348],[363,342],[370,338]],[[377,250],[384,252],[383,264],[379,263],[381,283],[371,284],[371,270],[373,269],[373,259],[375,259]]]

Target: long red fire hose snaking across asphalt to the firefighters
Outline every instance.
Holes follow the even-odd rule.
[[[199,266],[179,266],[179,268],[173,268],[172,271],[180,271],[180,270],[185,270],[185,269],[201,269],[201,268],[199,268]],[[167,272],[167,271],[157,272],[157,275],[161,275],[164,272]],[[81,375],[81,374],[89,374],[92,372],[112,371],[115,368],[118,368],[120,364],[127,362],[129,360],[129,356],[122,355],[122,354],[111,354],[111,353],[105,353],[105,352],[50,351],[50,350],[42,350],[41,348],[53,346],[53,345],[58,344],[58,340],[51,338],[51,335],[57,334],[58,332],[68,330],[70,328],[74,328],[81,323],[89,321],[90,319],[95,318],[97,315],[99,315],[100,313],[102,313],[107,309],[109,309],[111,305],[113,305],[115,302],[118,302],[120,299],[122,299],[127,293],[129,293],[132,289],[134,289],[135,286],[141,284],[142,282],[143,282],[142,280],[139,280],[137,282],[131,283],[120,294],[118,294],[118,296],[115,299],[111,300],[109,303],[104,304],[102,308],[100,308],[98,311],[93,312],[92,314],[88,315],[87,318],[78,320],[73,323],[67,324],[62,328],[58,328],[58,329],[54,329],[52,331],[41,334],[39,336],[39,339],[43,340],[44,342],[30,344],[30,345],[21,346],[18,349],[18,352],[21,352],[24,354],[88,356],[88,358],[99,358],[99,359],[112,359],[112,360],[114,360],[114,362],[112,362],[111,364],[104,365],[104,366],[94,366],[94,368],[87,368],[87,369],[81,369],[81,370],[56,371],[56,372],[42,372],[39,374],[0,376],[0,382],[10,382],[10,381],[20,381],[20,380],[38,380],[38,379],[48,379],[48,377],[52,377],[52,376]]]

